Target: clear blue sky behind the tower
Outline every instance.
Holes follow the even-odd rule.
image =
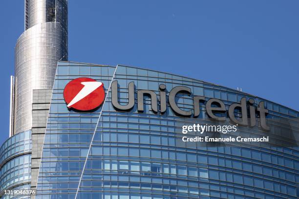
[[[0,143],[8,137],[23,0],[1,8]],[[69,60],[238,86],[299,110],[298,8],[298,0],[69,0]]]

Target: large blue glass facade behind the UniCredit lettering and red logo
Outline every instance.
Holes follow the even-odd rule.
[[[104,83],[107,99],[95,112],[68,110],[63,89],[70,80],[88,77]],[[222,100],[226,106],[241,98],[265,101],[267,119],[285,119],[298,135],[297,111],[233,89],[167,73],[128,66],[59,62],[46,127],[36,198],[77,199],[297,199],[298,147],[210,147],[178,145],[176,132],[184,123],[211,122],[204,106],[198,118],[176,116],[169,103],[165,114],[144,111],[137,101],[129,112],[111,103],[111,80],[118,81],[119,102],[128,103],[128,83],[154,91],[191,88],[192,95]],[[135,90],[136,91],[136,90]],[[136,99],[136,92],[135,92]],[[177,95],[182,110],[192,109],[192,95]],[[167,96],[168,97],[168,96]],[[236,113],[237,115],[238,113]],[[256,118],[259,124],[259,118]],[[279,122],[271,125],[280,135]],[[243,134],[259,131],[240,127]],[[296,190],[297,189],[297,190]]]

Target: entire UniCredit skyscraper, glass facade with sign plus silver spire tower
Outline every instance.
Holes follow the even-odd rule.
[[[180,75],[64,60],[67,0],[25,0],[0,199],[299,197],[298,111]],[[185,142],[201,136],[182,132],[196,124],[235,124],[204,132],[213,139],[269,141]]]

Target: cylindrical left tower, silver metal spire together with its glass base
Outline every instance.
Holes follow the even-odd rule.
[[[6,186],[35,189],[45,127],[41,121],[47,119],[49,108],[48,103],[41,106],[41,102],[51,97],[57,62],[67,60],[67,0],[24,3],[24,32],[16,43],[15,76],[11,77],[10,138],[0,152],[1,180],[6,184],[1,186],[1,195]],[[3,174],[12,162],[16,171],[8,174],[12,177],[8,180]]]

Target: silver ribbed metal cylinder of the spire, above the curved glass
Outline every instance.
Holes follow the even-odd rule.
[[[32,90],[52,89],[67,60],[67,0],[29,0],[28,27],[15,48],[14,134],[32,126]]]

